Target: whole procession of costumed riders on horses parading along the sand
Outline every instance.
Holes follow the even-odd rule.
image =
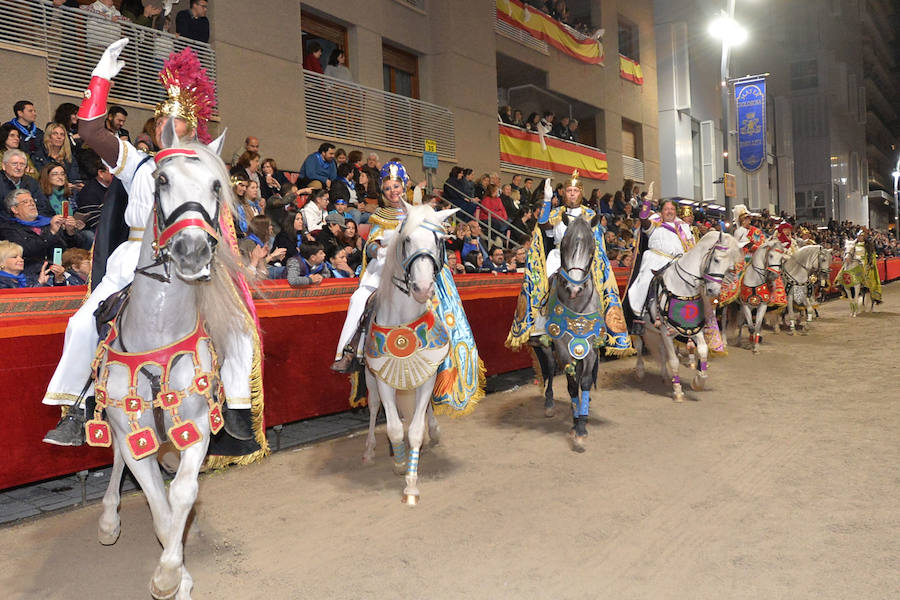
[[[223,139],[210,140],[206,132],[211,83],[189,50],[169,59],[161,75],[169,99],[156,112],[163,149],[145,155],[102,126],[127,43],[119,40],[103,54],[78,117],[81,135],[129,192],[129,241],[108,258],[103,280],[69,321],[44,397],[66,410],[44,441],[113,448],[99,541],[111,545],[119,538],[127,467],[162,545],[150,594],[184,600],[193,587],[185,531],[201,471],[266,454],[262,336],[253,282],[239,268]],[[428,442],[440,439],[437,418],[476,408],[485,398],[485,367],[445,256],[444,225],[456,209],[408,203],[409,177],[398,161],[387,162],[381,175],[363,274],[332,369],[350,378],[353,399],[367,398],[364,462],[376,457],[384,408],[389,449],[382,454],[390,453],[394,473],[404,478],[396,486],[399,512],[428,502],[419,465],[429,460]],[[572,460],[603,453],[602,436],[589,437],[588,424],[592,404],[594,413],[603,410],[598,380],[610,361],[634,361],[636,385],[644,385],[645,360],[653,358],[654,373],[681,403],[686,386],[703,391],[717,362],[735,360],[729,353],[753,360],[766,352],[764,336],[815,333],[817,309],[832,283],[831,254],[795,238],[790,228],[766,239],[738,205],[731,232],[700,236],[678,217],[676,202],[651,209],[651,185],[638,215],[638,259],[620,294],[600,215],[583,205],[579,173],[565,179],[564,202],[555,207],[553,184],[544,182],[515,314],[498,326],[511,323],[509,351],[532,355],[540,391],[531,408],[548,418],[571,411],[565,443]],[[847,241],[834,283],[849,300],[848,319],[875,310],[881,284],[864,234]],[[731,330],[736,337],[729,339]],[[562,404],[554,398],[557,373],[566,378]],[[180,455],[169,465],[175,475],[168,486],[157,460],[167,444]]]

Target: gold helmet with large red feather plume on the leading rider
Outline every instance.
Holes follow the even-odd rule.
[[[156,105],[156,118],[177,117],[197,133],[204,144],[212,141],[206,129],[216,107],[216,88],[194,51],[185,48],[169,55],[159,72],[168,98]]]

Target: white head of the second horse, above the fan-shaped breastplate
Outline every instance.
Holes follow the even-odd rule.
[[[394,285],[424,304],[434,294],[435,278],[446,262],[444,220],[457,208],[435,211],[428,205],[406,205],[407,216],[392,242]]]

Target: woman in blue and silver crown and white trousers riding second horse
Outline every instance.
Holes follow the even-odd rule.
[[[381,269],[384,266],[384,252],[387,249],[395,230],[406,218],[406,186],[409,177],[406,168],[399,162],[388,162],[381,167],[381,195],[384,206],[379,206],[369,223],[369,237],[366,240],[363,258],[363,273],[360,275],[359,287],[350,296],[347,317],[338,339],[332,371],[350,373],[360,366],[359,356],[362,348],[360,340],[371,317],[370,298],[381,283]]]

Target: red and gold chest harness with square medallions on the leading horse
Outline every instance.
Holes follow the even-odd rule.
[[[213,394],[213,386],[221,386],[216,377],[218,372],[218,358],[212,346],[212,341],[206,333],[202,322],[198,322],[190,334],[184,338],[147,352],[119,352],[112,349],[112,344],[118,337],[115,323],[109,330],[106,338],[97,348],[97,356],[94,358],[93,369],[98,374],[97,381],[107,381],[109,378],[109,365],[118,364],[128,369],[128,395],[124,398],[110,398],[106,388],[96,385],[94,395],[97,405],[94,408],[94,418],[85,423],[85,437],[91,446],[109,447],[112,444],[112,436],[109,424],[102,418],[104,408],[119,408],[128,417],[131,433],[126,436],[131,455],[140,460],[150,456],[159,449],[159,440],[151,427],[140,427],[138,419],[141,412],[159,407],[169,413],[173,425],[168,430],[169,439],[179,451],[183,451],[199,442],[203,436],[197,425],[191,419],[181,419],[178,407],[182,399],[196,394],[206,398],[209,404],[209,425],[213,434],[218,433],[224,421],[222,420],[222,405],[219,398],[223,397],[222,390]],[[205,344],[210,354],[210,370],[204,371],[198,354],[201,344]],[[168,386],[169,371],[175,364],[175,360],[181,355],[188,355],[194,365],[194,378],[191,384],[183,390],[172,390]],[[105,360],[104,360],[105,359]],[[145,400],[138,395],[138,376],[142,368],[146,366],[158,367],[161,370],[160,390],[153,400]],[[102,372],[100,372],[102,370]]]

